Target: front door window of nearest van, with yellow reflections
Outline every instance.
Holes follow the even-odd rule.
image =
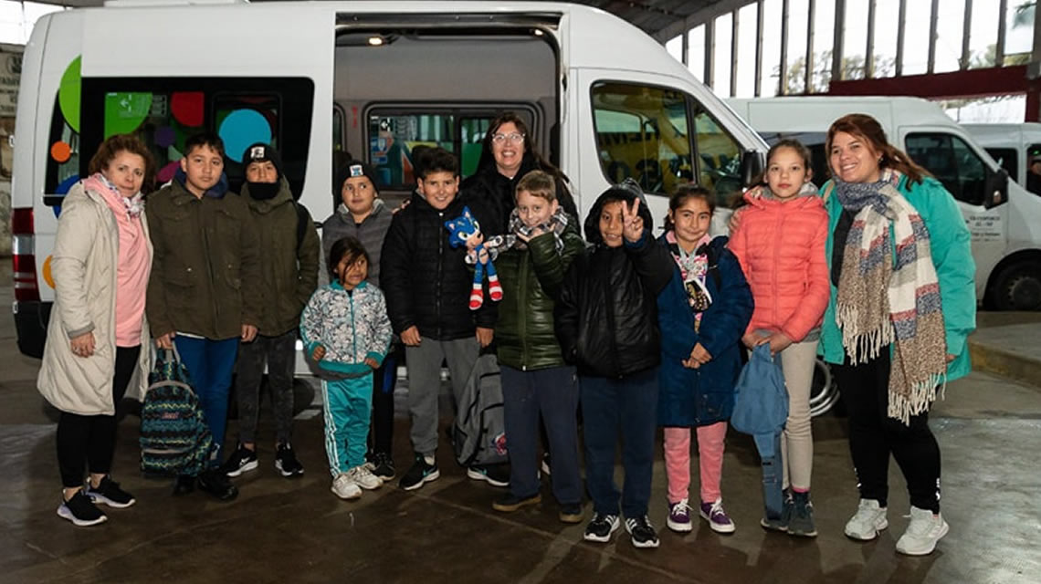
[[[635,179],[668,195],[693,180],[686,96],[675,90],[598,82],[593,127],[601,168],[612,183]]]

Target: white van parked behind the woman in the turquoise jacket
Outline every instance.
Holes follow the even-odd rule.
[[[728,104],[772,144],[799,139],[813,153],[818,184],[830,176],[824,141],[846,113],[878,120],[889,141],[958,200],[972,233],[976,297],[998,309],[1041,308],[1041,198],[1027,193],[939,105],[906,97],[732,99]]]

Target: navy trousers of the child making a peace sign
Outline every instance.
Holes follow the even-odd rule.
[[[658,423],[658,367],[621,379],[579,376],[586,452],[586,483],[593,511],[627,518],[646,515]],[[614,484],[614,455],[621,434],[623,491]],[[553,453],[556,458],[557,453]],[[556,477],[554,477],[556,480]]]

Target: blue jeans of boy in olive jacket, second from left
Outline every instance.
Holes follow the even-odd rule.
[[[192,386],[199,396],[206,425],[218,447],[215,457],[209,462],[210,467],[217,467],[221,464],[224,430],[228,426],[228,389],[235,369],[238,338],[213,340],[178,334],[174,336],[174,344],[192,376]]]

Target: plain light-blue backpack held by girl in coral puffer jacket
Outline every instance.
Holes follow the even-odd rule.
[[[730,424],[735,430],[752,434],[763,466],[763,501],[766,516],[781,517],[784,502],[781,492],[781,432],[788,421],[788,389],[784,383],[781,359],[770,354],[769,344],[757,346],[741,370],[734,388],[734,413]]]

